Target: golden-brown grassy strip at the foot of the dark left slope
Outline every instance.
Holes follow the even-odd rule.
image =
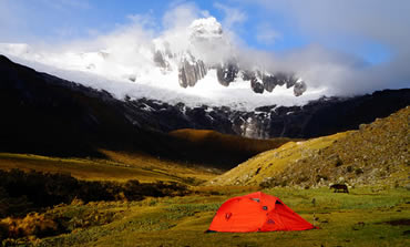
[[[71,174],[78,179],[140,182],[174,181],[197,184],[215,176],[214,171],[186,167],[170,161],[144,155],[101,151],[111,159],[60,158],[31,154],[0,153],[0,169],[19,168],[48,173]]]

